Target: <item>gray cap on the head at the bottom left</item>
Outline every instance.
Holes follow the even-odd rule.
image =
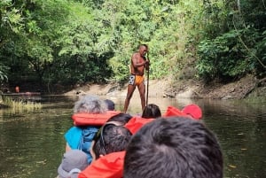
[[[66,151],[58,168],[59,178],[77,178],[88,166],[87,154],[80,150]]]

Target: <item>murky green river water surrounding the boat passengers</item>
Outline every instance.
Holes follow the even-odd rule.
[[[54,178],[65,150],[64,133],[73,125],[72,108],[77,97],[43,97],[43,108],[14,112],[0,110],[0,177]],[[112,99],[112,98],[111,98]],[[113,99],[121,110],[123,98]],[[181,100],[149,98],[161,112],[168,105],[182,109],[198,104],[207,127],[223,148],[224,177],[266,177],[266,101]],[[139,113],[139,99],[129,105]]]

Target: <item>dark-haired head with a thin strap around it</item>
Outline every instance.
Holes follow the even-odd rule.
[[[106,123],[100,128],[94,139],[95,143],[92,147],[92,151],[94,151],[96,159],[98,159],[100,155],[125,151],[131,135],[128,128],[116,126],[113,123]]]

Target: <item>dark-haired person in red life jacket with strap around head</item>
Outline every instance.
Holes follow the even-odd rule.
[[[123,159],[131,135],[129,129],[122,127],[120,122],[107,122],[91,143],[92,163],[78,177],[122,177]]]

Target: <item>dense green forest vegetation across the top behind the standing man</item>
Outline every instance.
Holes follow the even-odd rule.
[[[123,83],[139,43],[151,77],[265,77],[264,0],[2,0],[0,82]]]

